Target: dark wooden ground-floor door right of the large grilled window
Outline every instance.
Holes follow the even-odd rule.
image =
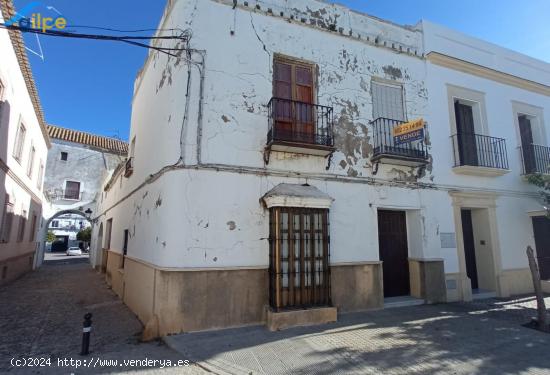
[[[384,297],[409,295],[409,250],[404,211],[378,211],[378,246],[383,262]]]

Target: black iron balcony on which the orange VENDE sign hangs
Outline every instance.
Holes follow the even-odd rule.
[[[422,166],[428,163],[428,148],[423,140],[395,144],[393,129],[403,123],[383,117],[371,121],[374,138],[371,161],[406,166]]]

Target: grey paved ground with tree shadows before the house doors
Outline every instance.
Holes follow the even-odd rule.
[[[424,305],[165,341],[219,374],[550,374],[550,334],[522,326],[532,307],[530,298]]]

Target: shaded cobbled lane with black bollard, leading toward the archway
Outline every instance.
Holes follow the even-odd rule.
[[[93,314],[91,354],[81,357],[82,321]],[[93,271],[85,258],[46,262],[39,270],[0,287],[0,373],[21,374],[203,374],[196,365],[181,368],[128,365],[123,360],[185,360],[162,342],[140,343],[142,326]],[[51,366],[14,368],[12,358],[50,358]],[[58,359],[106,361],[116,366],[58,366]],[[165,362],[166,363],[166,362]],[[46,364],[42,362],[42,364]],[[75,364],[75,362],[73,362]],[[83,364],[83,362],[82,362]],[[105,364],[103,362],[102,364]],[[97,366],[93,368],[93,366]],[[135,365],[135,366],[134,366]]]

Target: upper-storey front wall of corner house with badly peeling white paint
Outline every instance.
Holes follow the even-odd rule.
[[[274,2],[277,3],[286,4]],[[334,18],[331,14],[343,12],[340,7],[317,1],[296,2],[296,8],[307,9],[306,4],[310,6],[309,13],[326,9],[325,14],[317,16],[322,19]],[[322,8],[319,8],[320,4]],[[333,107],[335,113],[337,151],[330,172],[370,176],[369,157],[373,143],[369,125],[373,119],[371,80],[375,77],[403,84],[408,118],[425,116],[424,61],[376,47],[346,33],[331,33],[299,21],[289,23],[282,17],[251,12],[253,7],[254,4],[250,4],[249,9],[232,9],[216,2],[201,2],[195,16],[193,44],[206,49],[208,54],[203,161],[264,165],[263,148],[268,125],[266,105],[273,96],[273,56],[282,54],[318,66],[317,103]],[[272,12],[278,14],[275,5]],[[361,27],[376,28],[387,38],[407,41],[422,48],[421,38],[416,32],[348,13],[339,17],[347,20],[351,14],[362,20]],[[217,27],[209,26],[212,22]],[[227,153],[227,148],[232,152]],[[324,172],[325,166],[323,158],[278,153],[273,155],[273,162],[267,168]],[[387,173],[401,178],[397,171],[403,171],[407,176],[409,170],[393,167]]]

